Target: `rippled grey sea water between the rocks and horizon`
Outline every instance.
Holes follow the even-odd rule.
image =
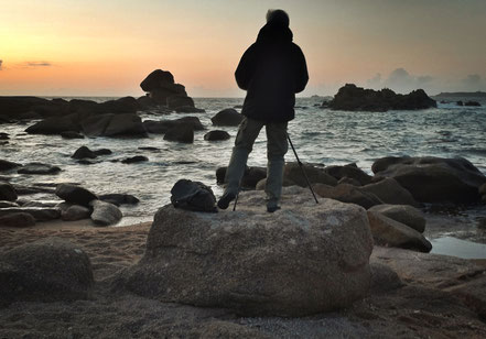
[[[99,98],[87,98],[102,101]],[[289,134],[302,162],[325,165],[356,163],[371,174],[377,158],[395,155],[462,156],[486,174],[486,108],[439,105],[436,109],[418,111],[350,112],[322,109],[322,98],[298,98],[295,119],[289,123]],[[170,203],[170,190],[180,178],[199,181],[210,186],[216,196],[222,187],[216,184],[216,168],[227,166],[237,132],[236,127],[213,127],[210,118],[225,108],[240,107],[242,98],[195,98],[195,105],[205,113],[171,113],[153,116],[140,112],[143,120],[199,118],[205,131],[196,131],[194,143],[183,144],[163,140],[162,134],[140,139],[85,138],[65,140],[60,135],[26,134],[34,122],[1,124],[1,132],[10,134],[8,144],[0,145],[0,158],[18,162],[42,162],[60,166],[57,175],[12,174],[14,184],[78,183],[101,195],[127,193],[140,199],[134,206],[122,206],[123,219],[119,226],[152,220],[153,214]],[[239,111],[240,109],[237,108]],[[225,130],[231,139],[209,142],[204,134],[209,130]],[[249,166],[266,166],[264,129],[250,154]],[[90,150],[109,149],[110,155],[83,165],[71,156],[86,145]],[[154,147],[152,151],[140,147]],[[148,162],[122,164],[115,162],[134,155],[144,155]],[[287,161],[294,161],[289,152]],[[3,174],[2,174],[3,175]],[[52,195],[37,194],[32,199],[52,200]]]

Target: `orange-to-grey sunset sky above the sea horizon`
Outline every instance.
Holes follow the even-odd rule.
[[[240,97],[234,72],[269,8],[290,14],[304,96],[486,90],[485,0],[1,0],[0,95],[137,97],[162,68],[190,96]]]

